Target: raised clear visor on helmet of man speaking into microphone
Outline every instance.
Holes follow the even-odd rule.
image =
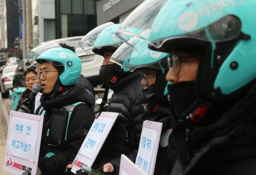
[[[45,54],[46,51],[50,53]],[[43,60],[56,66],[68,66],[64,64],[65,61],[60,60],[60,57],[71,60],[72,56],[74,55],[66,53],[60,45],[54,42],[42,44],[27,53],[28,61],[35,67],[38,67],[38,63],[41,64]]]

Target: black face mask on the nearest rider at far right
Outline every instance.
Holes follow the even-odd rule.
[[[168,85],[168,91],[170,104],[178,118],[197,98],[194,92],[194,81],[183,81]]]

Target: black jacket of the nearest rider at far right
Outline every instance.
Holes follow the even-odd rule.
[[[213,104],[198,124],[180,120],[169,140],[178,153],[171,175],[254,175],[255,119],[256,83],[245,96]]]

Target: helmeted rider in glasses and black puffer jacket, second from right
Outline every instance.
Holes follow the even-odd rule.
[[[131,44],[132,41],[133,39],[131,39],[131,41],[129,40],[128,43]],[[129,48],[129,46],[124,43],[118,48],[111,58],[112,61],[116,61],[120,60],[120,58],[124,58],[125,55],[129,55],[129,57],[127,57],[123,62],[122,67],[131,71],[140,70],[143,77],[142,85],[145,86],[144,89],[141,90],[141,96],[134,104],[132,111],[133,114],[143,111],[143,114],[133,115],[132,124],[134,126],[134,141],[137,143],[137,148],[134,151],[126,154],[126,156],[135,163],[140,143],[142,125],[145,120],[162,122],[162,137],[157,155],[155,174],[159,174],[161,172],[161,174],[168,175],[170,174],[176,161],[175,151],[168,146],[168,138],[172,131],[172,122],[168,100],[164,94],[167,84],[167,81],[165,81],[165,76],[168,72],[168,54],[157,53],[158,56],[156,56],[156,53],[154,53],[153,57],[152,51],[147,48],[146,43],[138,42],[137,44],[140,45],[140,51],[144,53],[143,55],[139,55],[136,51],[133,51],[131,47]],[[122,52],[122,50],[126,51]],[[128,60],[130,62],[129,66],[125,65],[125,62]],[[162,153],[166,154],[162,156]],[[171,156],[169,156],[168,153],[170,153]],[[110,163],[114,166],[112,167]],[[116,159],[111,159],[109,163],[104,166],[104,168],[114,168],[114,171],[111,170],[112,174],[118,175],[119,164],[120,157],[117,157]],[[103,172],[103,169],[101,169],[101,171]],[[105,170],[104,172],[107,171]]]

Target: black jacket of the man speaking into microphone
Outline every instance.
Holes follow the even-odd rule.
[[[90,110],[92,100],[85,88],[81,85],[66,86],[62,93],[54,92],[50,97],[42,94],[40,98],[41,105],[36,110],[36,114],[42,114],[42,107],[46,111],[44,114],[44,123],[42,129],[42,139],[38,167],[43,175],[61,175],[63,170],[78,153],[84,139],[94,121],[94,114]],[[78,104],[70,116],[68,123],[68,132],[66,141],[62,146],[49,146],[48,130],[52,124],[52,109],[60,109],[63,106],[84,102]],[[40,113],[39,113],[40,112]],[[66,120],[68,122],[68,120]],[[85,132],[87,130],[87,132]],[[66,131],[66,129],[65,129]],[[86,134],[85,134],[86,133]],[[47,153],[54,153],[51,157],[45,157]]]

